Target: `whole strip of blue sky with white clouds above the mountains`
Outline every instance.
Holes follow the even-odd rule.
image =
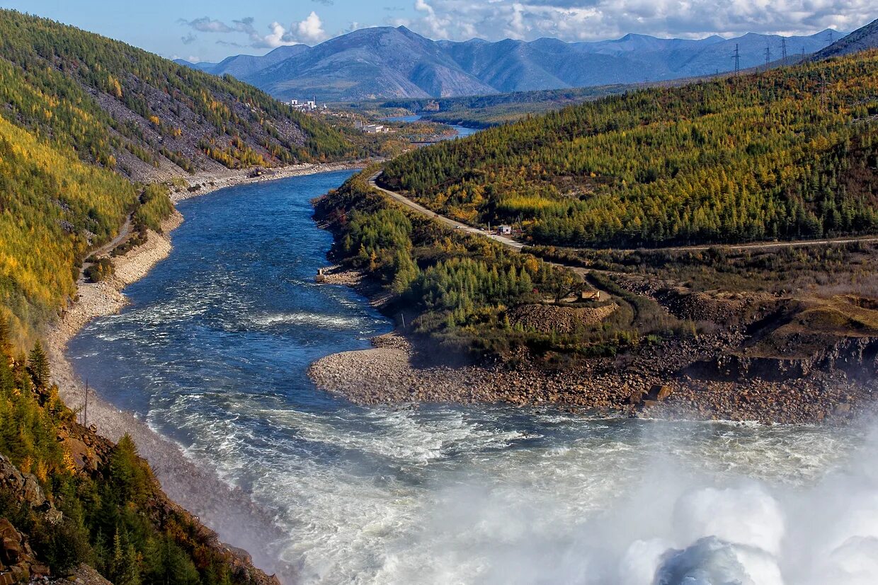
[[[683,39],[813,34],[852,31],[878,18],[874,0],[0,0],[0,7],[188,61],[313,46],[368,26],[405,25],[431,39],[576,41],[629,32]]]

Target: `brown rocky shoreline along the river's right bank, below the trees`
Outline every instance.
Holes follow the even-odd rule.
[[[335,267],[327,283],[352,286],[380,307],[380,289],[356,272]],[[308,375],[320,388],[360,404],[510,403],[601,411],[609,416],[817,424],[846,421],[870,408],[874,381],[812,372],[806,379],[777,381],[705,379],[687,366],[710,360],[740,339],[702,335],[619,358],[547,367],[532,357],[493,365],[420,366],[417,338],[392,332],[373,348],[335,353],[315,361]]]

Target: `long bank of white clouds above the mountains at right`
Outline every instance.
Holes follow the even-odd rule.
[[[628,32],[702,38],[745,32],[850,31],[875,17],[874,0],[415,0],[394,19],[435,39],[613,39]]]

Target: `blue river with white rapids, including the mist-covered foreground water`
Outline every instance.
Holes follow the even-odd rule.
[[[863,426],[361,408],[315,389],[309,363],[391,329],[313,282],[331,238],[310,199],[347,176],[180,203],[169,258],[68,349],[101,396],[268,510],[302,582],[878,582]]]

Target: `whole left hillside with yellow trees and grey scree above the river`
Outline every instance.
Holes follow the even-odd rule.
[[[90,248],[128,213],[141,232],[159,228],[167,196],[126,178],[371,149],[362,132],[351,136],[230,77],[0,11],[0,320],[29,343],[75,292]]]

